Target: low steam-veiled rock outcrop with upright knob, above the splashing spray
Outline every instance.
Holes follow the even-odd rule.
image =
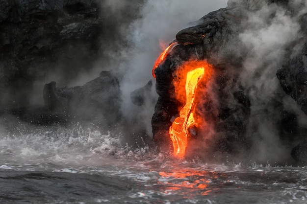
[[[83,86],[56,88],[55,82],[45,84],[45,107],[52,114],[63,114],[77,119],[116,125],[120,118],[121,91],[119,82],[108,71]]]

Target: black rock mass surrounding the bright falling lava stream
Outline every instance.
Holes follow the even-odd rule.
[[[250,101],[237,75],[242,55],[228,49],[230,42],[240,45],[241,18],[242,13],[237,7],[209,13],[197,22],[198,25],[179,31],[176,35],[179,45],[155,69],[159,98],[152,118],[153,141],[162,149],[171,146],[168,129],[172,117],[179,114],[178,107],[182,107],[174,96],[176,70],[182,63],[193,60],[206,60],[214,70],[210,91],[204,88],[196,96],[200,101],[196,112],[205,119],[206,128],[190,131],[194,136],[189,136],[189,143],[194,144],[188,145],[186,158],[220,153],[231,155],[249,147],[244,134],[250,116]]]

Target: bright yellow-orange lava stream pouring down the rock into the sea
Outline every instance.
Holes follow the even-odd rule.
[[[190,70],[186,76],[185,95],[186,103],[179,113],[172,126],[169,129],[169,134],[174,147],[174,156],[183,158],[185,148],[188,145],[188,128],[196,125],[191,109],[195,100],[195,91],[197,84],[205,74],[205,67],[195,68]]]

